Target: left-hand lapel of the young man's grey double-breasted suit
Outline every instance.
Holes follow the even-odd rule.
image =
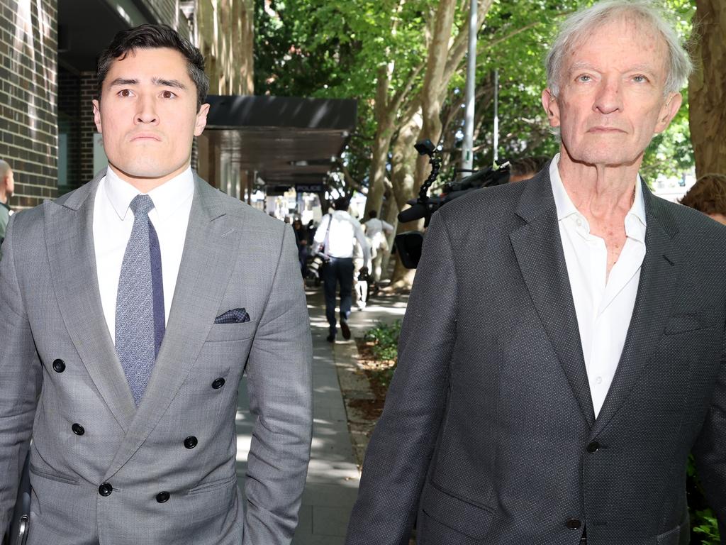
[[[126,430],[136,407],[116,355],[99,296],[93,211],[105,171],[68,198],[45,206],[45,236],[54,290],[70,339],[108,408]]]

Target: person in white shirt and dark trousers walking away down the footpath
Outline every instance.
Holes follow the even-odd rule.
[[[315,232],[314,247],[322,254],[323,292],[325,294],[325,317],[330,325],[327,342],[335,342],[338,323],[335,319],[335,291],[340,286],[340,331],[343,339],[351,338],[348,317],[351,315],[353,295],[353,251],[358,241],[363,249],[364,270],[370,270],[370,246],[357,219],[348,213],[348,198],[333,201],[333,212],[325,215]]]

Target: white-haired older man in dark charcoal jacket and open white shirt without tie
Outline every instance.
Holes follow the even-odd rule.
[[[726,228],[638,177],[689,70],[642,0],[565,23],[559,155],[431,220],[348,545],[686,544],[692,449],[726,543]]]

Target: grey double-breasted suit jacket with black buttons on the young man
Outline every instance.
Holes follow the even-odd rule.
[[[30,545],[287,544],[311,441],[311,338],[290,228],[195,179],[138,408],[94,262],[99,179],[16,214],[0,263],[0,534],[30,446]],[[246,323],[216,324],[245,308]],[[237,387],[250,416],[237,488]]]

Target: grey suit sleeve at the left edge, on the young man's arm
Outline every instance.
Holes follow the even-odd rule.
[[[41,366],[15,270],[10,219],[0,259],[0,538],[12,517],[33,431]]]

